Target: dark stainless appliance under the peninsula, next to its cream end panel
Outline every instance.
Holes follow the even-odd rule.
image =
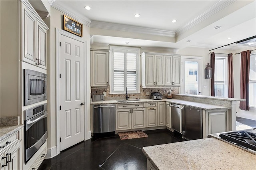
[[[182,134],[188,140],[203,138],[201,109],[184,107],[182,111]]]

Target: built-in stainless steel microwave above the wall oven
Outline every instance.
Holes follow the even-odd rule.
[[[24,106],[47,99],[46,74],[24,69]]]

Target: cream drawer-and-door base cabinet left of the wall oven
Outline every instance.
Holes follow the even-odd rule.
[[[1,170],[22,169],[21,129],[0,142]]]

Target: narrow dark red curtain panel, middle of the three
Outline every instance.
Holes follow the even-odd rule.
[[[233,54],[228,54],[228,97],[234,98]]]

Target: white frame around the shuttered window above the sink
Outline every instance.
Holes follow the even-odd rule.
[[[110,46],[110,67],[109,67],[109,72],[110,72],[110,94],[125,94],[126,92],[126,79],[124,82],[124,91],[120,92],[114,92],[114,51],[117,52],[126,52],[129,53],[136,53],[136,91],[129,91],[128,94],[137,94],[140,93],[140,48],[138,47],[124,47],[124,46]],[[124,70],[124,75],[126,78],[126,67]]]

